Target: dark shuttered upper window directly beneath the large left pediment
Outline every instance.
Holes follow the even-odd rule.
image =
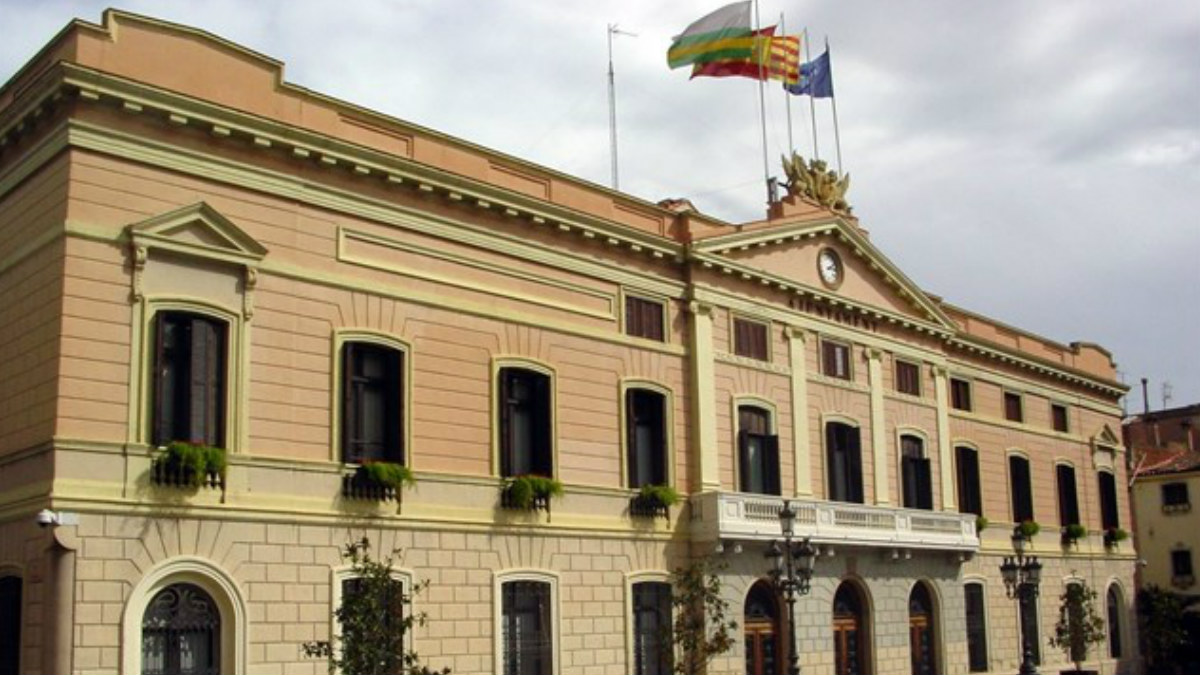
[[[187,441],[224,447],[226,335],[223,321],[161,311],[154,327],[156,446]]]

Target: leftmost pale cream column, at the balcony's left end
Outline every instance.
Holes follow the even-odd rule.
[[[721,489],[716,454],[716,377],[713,370],[713,306],[691,301],[691,413],[701,491]]]

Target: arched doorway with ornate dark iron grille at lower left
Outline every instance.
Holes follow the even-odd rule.
[[[221,611],[193,584],[158,591],[142,619],[142,675],[217,675]]]

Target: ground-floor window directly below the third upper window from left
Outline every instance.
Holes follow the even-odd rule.
[[[504,675],[551,675],[554,643],[550,584],[506,581],[500,589]]]

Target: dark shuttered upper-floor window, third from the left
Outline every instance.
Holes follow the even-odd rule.
[[[552,477],[550,376],[502,368],[499,388],[500,476]]]

